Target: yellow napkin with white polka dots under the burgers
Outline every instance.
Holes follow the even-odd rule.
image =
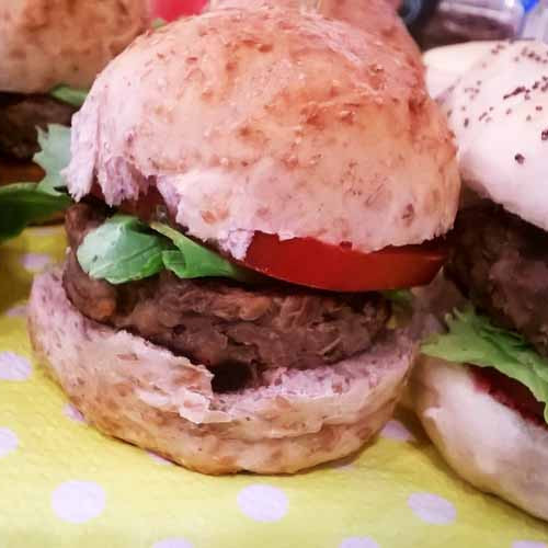
[[[0,246],[0,547],[548,548],[548,525],[455,477],[400,411],[354,459],[210,478],[91,429],[33,362],[32,277],[60,228]]]

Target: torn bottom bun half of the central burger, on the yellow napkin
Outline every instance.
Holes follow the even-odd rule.
[[[89,422],[205,473],[295,472],[357,450],[390,418],[415,355],[393,334],[333,366],[273,369],[261,388],[216,395],[205,367],[84,318],[59,273],[35,278],[28,331]]]

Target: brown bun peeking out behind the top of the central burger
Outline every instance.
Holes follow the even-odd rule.
[[[251,9],[261,5],[277,5],[284,9],[302,9],[302,0],[210,0],[209,9]],[[344,21],[373,36],[386,46],[408,53],[408,60],[421,65],[421,53],[416,43],[395,9],[385,0],[322,0],[309,1],[309,10],[317,10],[327,19]]]

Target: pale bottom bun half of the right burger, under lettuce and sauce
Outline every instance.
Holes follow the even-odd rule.
[[[548,520],[548,432],[477,390],[465,365],[421,356],[410,383],[434,445],[472,486]]]

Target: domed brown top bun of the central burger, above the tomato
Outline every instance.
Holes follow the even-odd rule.
[[[218,10],[141,36],[73,118],[70,193],[156,185],[189,233],[236,259],[254,231],[420,243],[453,225],[446,121],[422,71],[316,13]]]

